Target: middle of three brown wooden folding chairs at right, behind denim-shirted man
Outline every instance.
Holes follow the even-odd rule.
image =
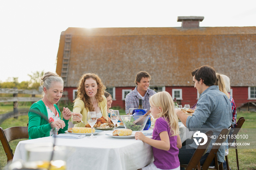
[[[221,170],[223,170],[223,163],[221,163],[218,166],[217,152],[219,150],[219,147],[221,146],[221,143],[225,142],[225,140],[227,139],[227,135],[229,134],[230,129],[231,129],[231,127],[229,129],[225,128],[221,131],[217,140],[215,141],[215,144],[212,146],[211,151],[209,152],[206,160],[204,161],[204,163],[201,167],[202,170],[207,170],[207,169],[217,169],[217,170],[221,169]],[[215,162],[215,167],[210,167],[210,164],[211,164],[212,160],[214,160],[214,162]]]

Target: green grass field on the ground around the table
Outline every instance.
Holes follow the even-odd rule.
[[[26,106],[23,106],[26,108]],[[29,107],[27,107],[29,108]],[[61,107],[60,107],[61,108]],[[69,107],[72,109],[71,107]],[[113,108],[118,109],[118,108]],[[120,115],[124,115],[125,112],[122,109],[120,110]],[[12,106],[0,106],[0,114],[12,111]],[[255,112],[238,112],[237,118],[245,117],[245,123],[242,128],[256,128],[256,113]],[[28,123],[28,116],[19,116],[18,119],[10,118],[5,120],[0,126],[3,129],[12,126],[26,126]],[[20,140],[15,140],[10,142],[12,150],[15,152],[15,148]],[[238,149],[238,158],[240,169],[244,170],[256,170],[256,148],[249,149]],[[236,170],[236,152],[234,149],[229,149],[229,163],[232,170]],[[0,144],[0,169],[7,163],[7,157],[4,153],[3,147]]]

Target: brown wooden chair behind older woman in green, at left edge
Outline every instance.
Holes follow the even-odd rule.
[[[27,126],[15,126],[5,130],[0,127],[0,140],[3,145],[5,154],[7,156],[7,162],[13,158],[13,152],[9,145],[9,142],[16,139],[28,139],[29,132]]]

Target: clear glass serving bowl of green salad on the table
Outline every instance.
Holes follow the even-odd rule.
[[[123,121],[126,129],[131,129],[132,131],[142,131],[147,124],[149,116],[150,115],[120,115],[120,118]]]

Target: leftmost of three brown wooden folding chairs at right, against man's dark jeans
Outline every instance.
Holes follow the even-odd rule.
[[[193,154],[192,158],[190,159],[188,165],[185,164],[180,164],[180,167],[185,167],[186,170],[195,170],[196,167],[199,170],[200,169],[200,159],[202,158],[202,156],[204,154],[206,154],[208,147],[210,146],[210,142],[211,142],[211,136],[213,134],[213,131],[207,131],[206,135],[207,135],[207,142],[204,145],[199,145],[196,148],[195,153]],[[202,140],[201,143],[203,143],[204,140]]]

